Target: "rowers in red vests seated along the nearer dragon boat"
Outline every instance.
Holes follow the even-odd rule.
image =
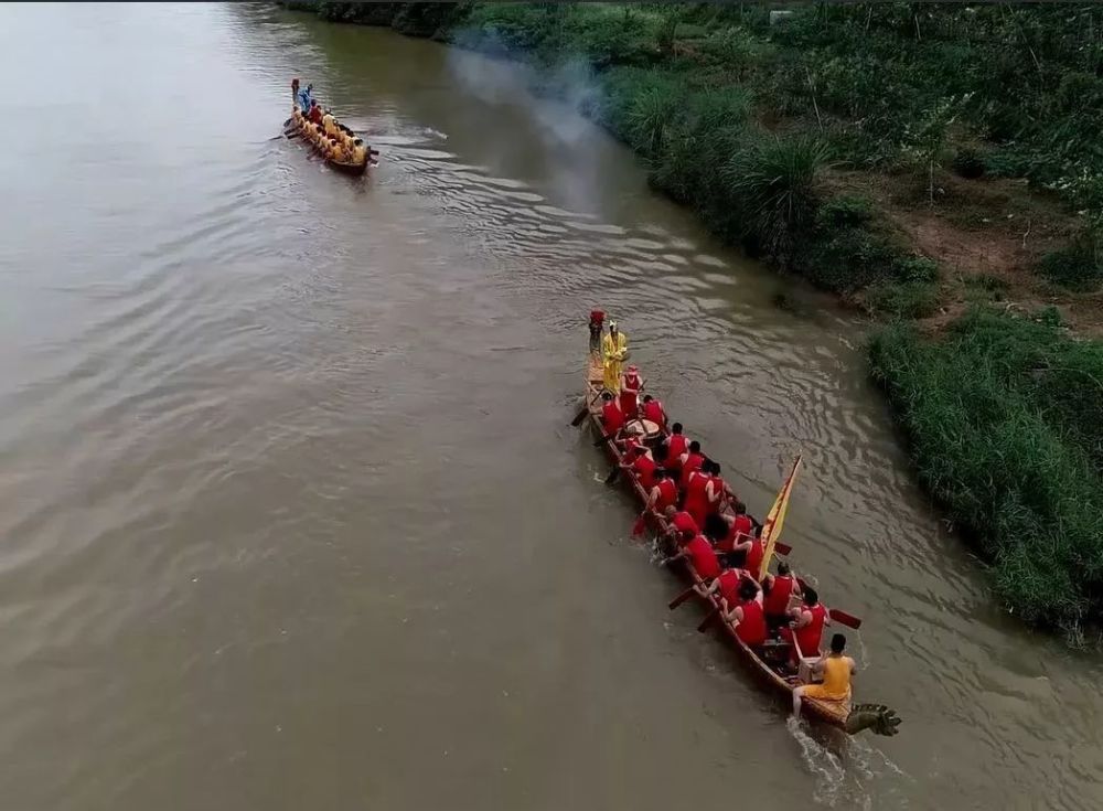
[[[815,655],[831,622],[815,589],[805,586],[801,594],[784,562],[777,575],[761,572],[762,526],[724,481],[720,466],[702,453],[700,442],[689,441],[681,423],[666,430],[662,403],[646,395],[636,407],[635,376],[629,366],[619,397],[602,393],[601,423],[623,452],[621,467],[649,494],[646,512],[664,516],[677,541],[670,562],[689,559],[706,584],[698,587],[702,594],[719,594],[725,620],[747,644],[762,645],[772,632],[792,644],[795,636],[801,652]],[[652,447],[638,433],[639,417],[658,426],[662,438]],[[796,662],[795,647],[791,659]]]

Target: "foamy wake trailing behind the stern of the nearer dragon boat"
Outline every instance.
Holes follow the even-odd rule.
[[[843,736],[835,730],[815,728],[790,716],[789,734],[801,750],[801,758],[815,777],[812,799],[827,808],[872,809],[892,798],[903,802],[899,778],[910,777],[888,756],[861,738]],[[811,732],[826,733],[817,739]]]

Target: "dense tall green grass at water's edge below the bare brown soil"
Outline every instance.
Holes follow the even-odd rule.
[[[920,478],[1029,621],[1103,617],[1103,346],[975,310],[941,340],[870,345]]]

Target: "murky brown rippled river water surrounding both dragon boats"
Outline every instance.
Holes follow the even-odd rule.
[[[0,8],[4,809],[1099,808],[1096,657],[999,610],[865,326],[515,66],[265,7]],[[298,75],[382,162],[281,139]],[[585,92],[585,87],[579,88]],[[567,427],[592,306],[861,616],[786,722]]]

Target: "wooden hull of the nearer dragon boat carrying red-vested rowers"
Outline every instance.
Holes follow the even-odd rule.
[[[586,403],[589,410],[588,421],[591,426],[593,426],[598,437],[604,436],[604,429],[601,426],[601,392],[603,388],[604,384],[601,359],[597,353],[591,351],[586,372]],[[622,455],[619,448],[617,448],[613,442],[603,442],[603,446],[606,448],[606,452],[610,456],[612,461],[619,465],[622,460]],[[644,492],[635,477],[623,476],[621,478],[630,482],[632,492],[635,494],[641,505],[646,504],[647,493]],[[666,538],[666,522],[663,519],[656,519],[655,516],[651,516],[650,520],[657,529],[658,537]],[[667,546],[666,551],[671,551],[670,546]],[[689,562],[686,561],[684,563],[685,565],[682,568],[684,570],[685,579],[694,584],[703,585],[704,580],[702,580],[702,578],[697,575]],[[697,599],[708,604],[707,607],[709,610],[719,607],[719,599],[716,597],[705,598],[698,596]],[[735,629],[727,622],[717,622],[716,625],[722,629],[721,632],[730,640],[731,644],[736,649],[736,652],[739,654],[745,664],[750,666],[767,685],[778,693],[779,696],[784,695],[792,701],[793,690],[801,684],[795,676],[786,677],[778,673],[768,662],[761,659],[754,650],[739,639],[739,637],[736,636]],[[843,729],[846,728],[846,718],[849,715],[849,709],[850,707],[848,702],[820,701],[815,698],[804,698],[802,702],[802,712],[804,715]]]

